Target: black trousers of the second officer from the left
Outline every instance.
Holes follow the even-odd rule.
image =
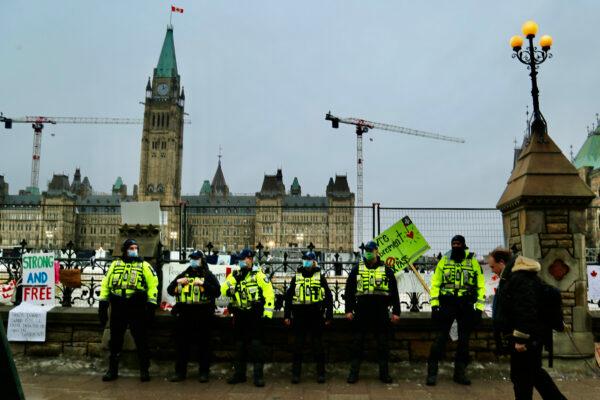
[[[176,306],[175,340],[177,360],[175,372],[186,375],[190,354],[197,347],[198,370],[208,373],[211,358],[213,306],[179,304]]]

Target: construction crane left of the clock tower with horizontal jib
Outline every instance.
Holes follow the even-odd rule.
[[[0,122],[4,122],[6,129],[12,129],[13,123],[31,124],[33,128],[33,151],[31,156],[31,186],[38,188],[40,180],[40,157],[42,155],[42,130],[44,124],[112,124],[112,125],[141,125],[141,118],[97,118],[97,117],[34,117],[25,116],[19,118],[8,118],[0,113]],[[184,120],[184,124],[190,124]],[[35,190],[34,189],[34,190]]]

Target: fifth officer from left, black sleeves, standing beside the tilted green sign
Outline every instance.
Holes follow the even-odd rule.
[[[377,243],[370,241],[364,247],[362,261],[352,268],[346,281],[346,319],[353,321],[354,337],[352,363],[348,383],[358,381],[360,363],[363,356],[363,343],[367,333],[373,333],[377,340],[379,380],[393,381],[389,374],[389,307],[392,307],[391,321],[400,321],[400,298],[394,272],[379,258]]]

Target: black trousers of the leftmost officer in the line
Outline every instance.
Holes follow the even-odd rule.
[[[135,341],[140,369],[150,367],[148,351],[148,319],[146,313],[146,297],[134,296],[129,299],[111,296],[110,298],[110,358],[118,362],[123,350],[123,339],[127,327]]]

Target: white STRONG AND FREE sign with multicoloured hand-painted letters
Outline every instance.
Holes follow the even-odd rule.
[[[23,254],[23,302],[54,304],[54,255]]]

